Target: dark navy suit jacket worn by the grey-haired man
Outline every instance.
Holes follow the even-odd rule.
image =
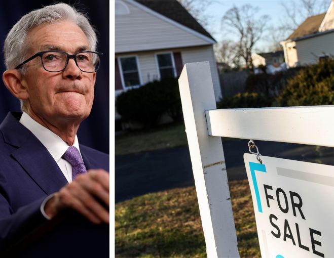
[[[22,113],[8,113],[0,124],[0,249],[46,219],[43,200],[68,182],[44,145],[20,122]],[[109,170],[107,154],[80,145],[87,170]]]

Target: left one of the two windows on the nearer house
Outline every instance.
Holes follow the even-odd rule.
[[[121,57],[120,63],[121,63],[124,87],[132,87],[140,85],[137,58]]]

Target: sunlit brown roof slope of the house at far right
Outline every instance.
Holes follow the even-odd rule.
[[[317,33],[326,13],[308,17],[287,39],[295,39]]]

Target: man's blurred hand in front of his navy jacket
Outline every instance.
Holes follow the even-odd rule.
[[[103,169],[90,169],[64,186],[45,204],[52,219],[65,208],[75,209],[95,224],[109,224],[109,174]]]

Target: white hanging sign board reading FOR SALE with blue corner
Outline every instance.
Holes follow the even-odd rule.
[[[334,257],[334,166],[244,154],[262,257]]]

